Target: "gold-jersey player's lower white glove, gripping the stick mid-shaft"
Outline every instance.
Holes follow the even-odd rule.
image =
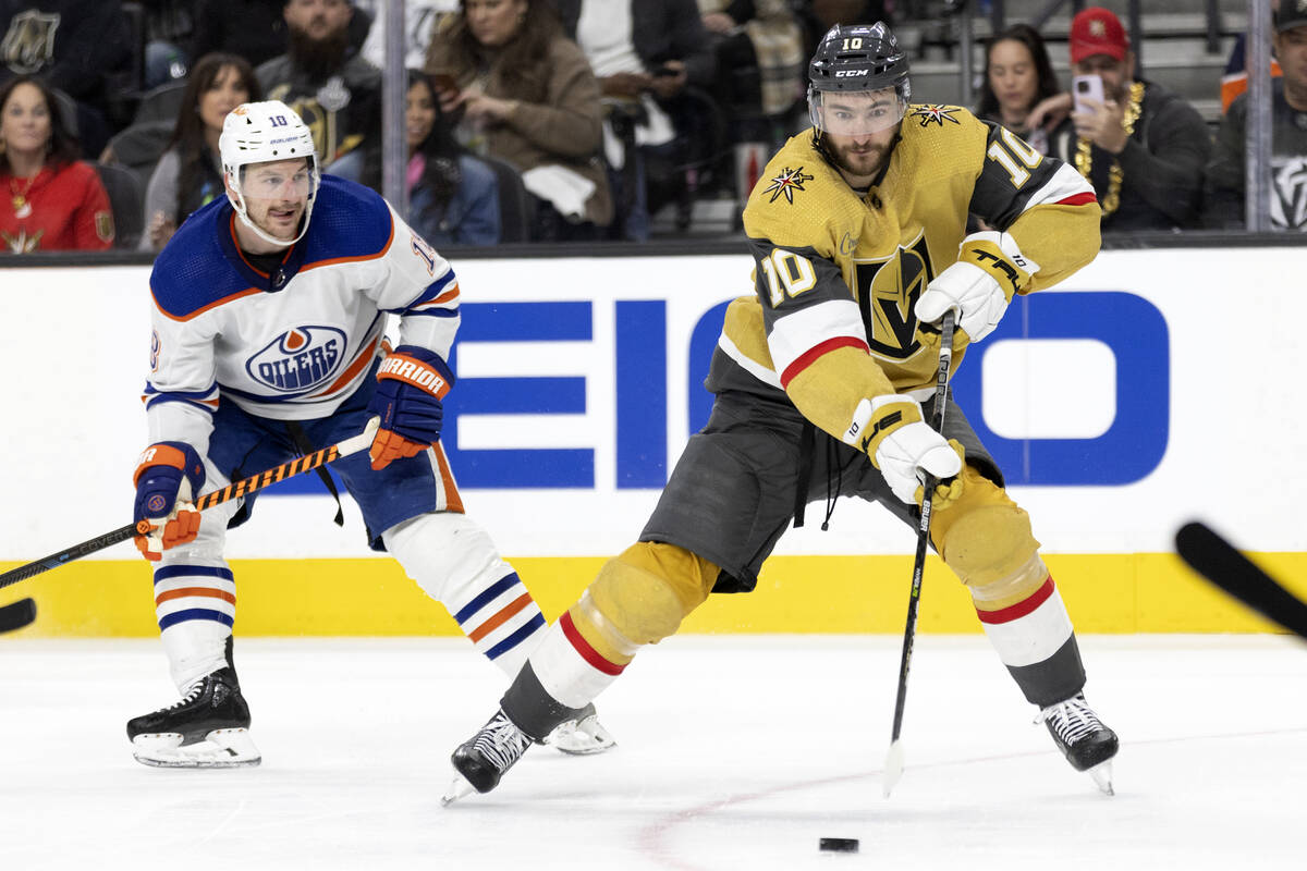
[[[910,396],[891,393],[859,402],[844,441],[870,457],[902,501],[921,504],[927,474],[937,479],[933,509],[962,495],[962,445],[932,430]]]

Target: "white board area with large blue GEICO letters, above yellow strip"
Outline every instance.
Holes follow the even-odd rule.
[[[1307,248],[1104,252],[1018,298],[953,381],[1050,552],[1155,552],[1201,517],[1249,550],[1307,550],[1299,300]],[[469,513],[510,555],[601,555],[638,535],[686,439],[738,256],[460,260],[443,440]],[[144,447],[146,268],[5,269],[0,558],[127,522]],[[1297,285],[1297,290],[1295,290]],[[293,293],[293,289],[291,289]],[[348,503],[348,499],[346,499]],[[231,556],[365,556],[316,475],[260,498]],[[840,499],[778,552],[911,552]],[[123,558],[119,547],[105,556]]]

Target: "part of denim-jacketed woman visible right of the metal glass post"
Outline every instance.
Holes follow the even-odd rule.
[[[499,183],[494,170],[455,141],[430,77],[410,69],[408,82],[408,225],[437,248],[495,244]]]

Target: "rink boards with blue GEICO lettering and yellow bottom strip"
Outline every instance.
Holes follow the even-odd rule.
[[[1303,248],[1104,251],[1019,299],[955,379],[1034,518],[1082,632],[1265,632],[1172,554],[1201,518],[1307,593]],[[745,255],[456,259],[464,325],[446,444],[471,513],[555,616],[638,534],[703,422],[702,388]],[[0,568],[131,520],[145,444],[149,268],[0,270]],[[312,475],[230,534],[240,635],[455,633]],[[840,499],[791,530],[759,589],[714,597],[694,632],[902,632],[914,533]],[[0,592],[31,635],[157,632],[129,543]],[[925,632],[974,632],[932,558]]]

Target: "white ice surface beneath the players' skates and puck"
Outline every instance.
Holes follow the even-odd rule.
[[[158,642],[5,636],[0,868],[1307,867],[1307,646],[1081,641],[1123,742],[1115,798],[979,636],[918,639],[890,799],[898,639],[687,636],[601,696],[614,751],[536,747],[442,808],[448,753],[503,686],[465,641],[238,639],[264,764],[159,770],[124,733],[175,699]]]

